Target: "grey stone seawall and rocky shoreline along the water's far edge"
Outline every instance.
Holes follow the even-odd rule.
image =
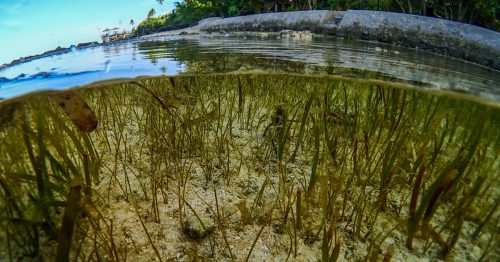
[[[221,32],[280,33],[284,30],[310,31],[325,36],[378,41],[421,49],[500,70],[499,32],[444,19],[383,11],[313,10],[229,18],[214,17],[200,20],[197,25],[192,27],[138,36],[138,38],[210,35]],[[22,57],[8,64],[0,65],[0,70],[38,58],[67,53],[74,48],[83,49],[120,41],[88,42],[67,48],[57,47],[42,54]]]

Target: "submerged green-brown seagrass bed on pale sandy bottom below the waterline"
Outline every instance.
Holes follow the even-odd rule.
[[[496,260],[498,130],[495,105],[331,76],[2,101],[0,259]]]

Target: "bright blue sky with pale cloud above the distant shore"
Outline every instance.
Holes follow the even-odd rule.
[[[58,46],[101,41],[105,28],[130,30],[151,8],[169,12],[166,0],[0,0],[0,65]]]

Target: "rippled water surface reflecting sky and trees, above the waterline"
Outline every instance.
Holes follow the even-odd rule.
[[[333,74],[500,100],[500,74],[424,51],[333,38],[170,36],[77,49],[0,70],[0,98],[95,81],[186,72]]]

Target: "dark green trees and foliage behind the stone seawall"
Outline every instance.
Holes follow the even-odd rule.
[[[164,0],[157,0],[163,4]],[[180,0],[167,14],[151,9],[134,35],[192,26],[208,17],[298,10],[366,9],[402,12],[475,24],[500,31],[499,0]],[[132,22],[132,21],[131,21]]]

